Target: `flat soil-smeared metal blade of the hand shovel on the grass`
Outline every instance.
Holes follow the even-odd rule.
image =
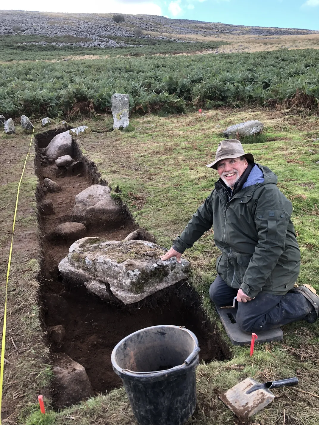
[[[247,391],[256,384],[259,384],[259,382],[252,378],[246,378],[225,393],[220,394],[219,398],[237,417],[248,419],[270,404],[275,398],[273,393],[265,388],[247,394]]]

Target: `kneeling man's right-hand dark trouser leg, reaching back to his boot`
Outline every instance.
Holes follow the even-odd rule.
[[[302,320],[313,310],[311,303],[299,292],[286,295],[259,292],[253,300],[238,303],[236,322],[242,331],[257,333]]]

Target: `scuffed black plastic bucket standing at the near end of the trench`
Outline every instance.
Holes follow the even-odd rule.
[[[182,425],[196,408],[197,337],[181,326],[151,326],[134,332],[112,351],[140,425]]]

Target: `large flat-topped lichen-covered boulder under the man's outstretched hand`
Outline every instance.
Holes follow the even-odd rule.
[[[148,241],[82,238],[70,246],[59,270],[105,300],[112,293],[124,304],[131,304],[187,278],[189,262],[183,258],[182,263],[176,258],[162,261],[159,257],[165,252]]]

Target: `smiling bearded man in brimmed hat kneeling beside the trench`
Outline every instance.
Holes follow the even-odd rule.
[[[214,225],[222,254],[209,294],[218,306],[232,305],[237,297],[242,331],[266,331],[302,319],[313,323],[319,297],[309,285],[294,287],[300,250],[292,205],[276,186],[277,176],[255,164],[235,139],[220,142],[207,167],[219,174],[215,189],[161,259],[180,261],[185,249]]]

